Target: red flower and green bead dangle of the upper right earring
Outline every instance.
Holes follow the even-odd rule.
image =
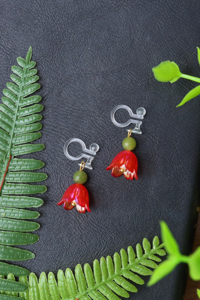
[[[111,175],[113,177],[119,177],[121,174],[126,179],[137,179],[137,158],[131,150],[135,148],[136,141],[130,137],[131,129],[128,130],[128,136],[123,139],[122,146],[125,150],[119,152],[110,165],[106,167],[106,170],[112,169]]]

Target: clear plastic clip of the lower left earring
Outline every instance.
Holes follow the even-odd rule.
[[[85,153],[80,153],[78,156],[71,156],[69,153],[68,153],[68,146],[71,142],[78,142],[81,147],[82,147],[82,151],[85,152],[85,153],[88,153],[88,154],[85,154]],[[70,138],[69,140],[67,140],[64,144],[64,155],[71,159],[71,160],[79,160],[79,159],[82,159],[82,158],[86,158],[86,162],[84,164],[84,167],[88,168],[88,169],[92,169],[92,166],[91,166],[91,161],[93,160],[93,156],[92,155],[95,155],[96,152],[98,151],[99,149],[99,146],[97,143],[91,143],[90,146],[89,146],[89,149],[86,148],[85,146],[85,143],[79,139],[79,138]],[[78,165],[80,165],[80,163],[78,163]]]

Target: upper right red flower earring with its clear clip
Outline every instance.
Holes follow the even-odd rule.
[[[141,121],[129,119],[125,123],[118,123],[114,118],[114,113],[119,108],[124,108],[129,112],[129,115],[134,118],[143,119],[143,115],[146,113],[146,110],[143,107],[139,107],[136,110],[136,114],[132,112],[132,110],[126,105],[117,105],[111,111],[111,120],[114,125],[118,127],[128,126],[130,123],[135,123],[134,129],[128,130],[128,136],[125,137],[122,141],[122,146],[124,148],[123,151],[119,152],[112,160],[110,165],[106,167],[106,170],[111,171],[111,175],[113,177],[119,177],[121,174],[124,175],[126,179],[132,180],[133,178],[137,179],[137,158],[131,150],[133,150],[136,146],[136,141],[133,137],[131,137],[131,132],[141,134],[140,125]]]

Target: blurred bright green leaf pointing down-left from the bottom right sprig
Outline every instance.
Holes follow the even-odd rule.
[[[151,286],[155,284],[157,281],[159,281],[160,279],[162,279],[164,276],[169,274],[177,265],[177,263],[178,263],[177,260],[173,258],[161,262],[158,265],[158,267],[153,271],[147,285]]]

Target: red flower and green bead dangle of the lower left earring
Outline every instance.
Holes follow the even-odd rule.
[[[82,184],[87,180],[87,174],[83,171],[84,161],[80,163],[79,171],[73,175],[74,184],[71,184],[64,192],[61,200],[57,205],[63,205],[64,209],[70,210],[76,207],[78,212],[90,211],[89,196],[86,187]]]

